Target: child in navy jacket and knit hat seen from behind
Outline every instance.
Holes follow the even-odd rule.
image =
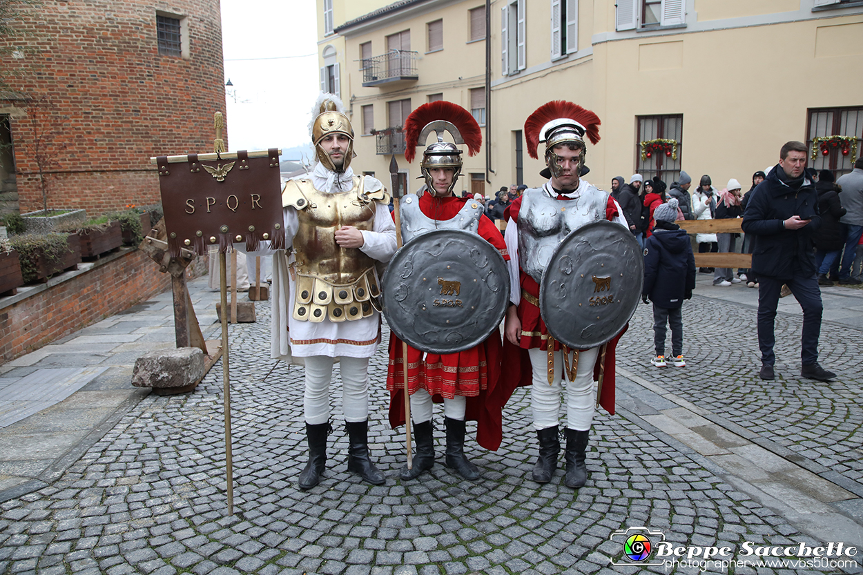
[[[683,367],[683,300],[696,287],[696,260],[690,237],[677,219],[677,199],[658,205],[653,212],[653,235],[645,243],[645,284],[641,299],[653,302],[653,346],[650,363],[665,367],[665,324],[671,325],[671,363]]]

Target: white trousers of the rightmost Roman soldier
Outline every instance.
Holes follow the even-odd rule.
[[[548,383],[548,352],[527,350],[531,357],[533,377],[531,382],[531,408],[533,428],[545,429],[557,425],[560,413],[560,394],[564,389],[561,382],[563,353],[554,352],[554,381]],[[576,431],[588,431],[594,414],[593,370],[599,348],[582,351],[578,354],[578,370],[575,381],[566,382],[566,427]]]

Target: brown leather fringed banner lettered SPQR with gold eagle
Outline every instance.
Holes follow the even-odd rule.
[[[261,240],[271,240],[277,250],[285,247],[278,148],[264,157],[250,158],[246,151],[225,156],[156,158],[171,256],[180,256],[183,247],[203,256],[216,244],[224,253],[240,242],[254,251]]]

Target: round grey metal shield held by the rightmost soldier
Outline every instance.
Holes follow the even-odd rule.
[[[572,231],[539,283],[548,332],[573,349],[607,343],[639,305],[644,268],[639,243],[620,224],[602,220]]]

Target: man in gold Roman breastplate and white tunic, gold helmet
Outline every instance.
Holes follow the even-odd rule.
[[[369,459],[368,369],[381,322],[376,265],[396,248],[389,194],[379,180],[354,175],[354,130],[341,100],[322,93],[309,128],[318,161],[312,177],[289,180],[282,191],[289,250],[274,257],[271,355],[299,358],[306,366],[309,461],[299,488],[311,489],[324,472],[335,358],[350,439],[348,470],[381,484],[386,477]]]

